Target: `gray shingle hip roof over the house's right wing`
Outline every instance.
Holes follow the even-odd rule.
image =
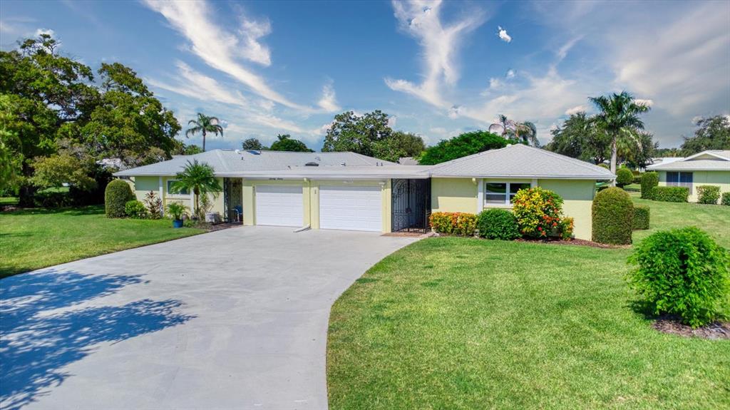
[[[431,169],[434,177],[614,179],[591,163],[523,144],[450,160]]]

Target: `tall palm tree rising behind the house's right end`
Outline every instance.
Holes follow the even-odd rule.
[[[599,109],[593,120],[611,140],[611,172],[615,174],[618,139],[629,139],[639,145],[640,149],[639,131],[644,129],[644,122],[639,118],[639,114],[648,112],[650,107],[638,103],[634,100],[634,96],[626,91],[588,99]]]

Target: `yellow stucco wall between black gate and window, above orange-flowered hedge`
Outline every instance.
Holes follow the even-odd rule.
[[[471,178],[431,178],[432,212],[477,212],[477,184]]]

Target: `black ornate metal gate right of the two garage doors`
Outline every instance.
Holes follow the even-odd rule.
[[[431,214],[431,179],[393,179],[393,232],[426,232]]]

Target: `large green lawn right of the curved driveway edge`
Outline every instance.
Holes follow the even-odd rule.
[[[730,246],[730,209],[647,202],[652,231]],[[651,328],[630,252],[433,238],[388,256],[332,308],[331,409],[730,408],[730,341]]]

